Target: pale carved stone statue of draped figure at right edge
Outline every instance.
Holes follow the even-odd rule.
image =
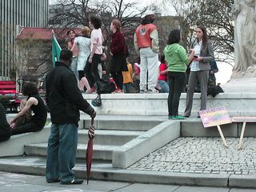
[[[234,1],[234,72],[256,73],[256,0]]]

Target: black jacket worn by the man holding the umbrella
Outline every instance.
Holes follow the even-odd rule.
[[[46,103],[53,123],[78,123],[79,110],[90,115],[94,113],[78,90],[74,72],[64,62],[56,62],[46,75]]]

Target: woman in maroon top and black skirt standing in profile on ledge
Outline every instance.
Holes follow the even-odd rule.
[[[117,93],[122,93],[122,71],[127,71],[126,65],[126,43],[125,38],[120,32],[121,22],[118,19],[114,19],[111,22],[110,30],[113,32],[110,50],[112,54],[110,74],[114,79],[118,89],[115,90]]]

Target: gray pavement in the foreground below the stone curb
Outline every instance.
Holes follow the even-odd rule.
[[[168,186],[130,182],[90,181],[82,185],[64,186],[59,183],[49,184],[43,176],[10,174],[0,172],[0,191],[5,192],[256,192],[250,189],[229,189],[199,186]]]

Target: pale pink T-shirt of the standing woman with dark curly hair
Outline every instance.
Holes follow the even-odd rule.
[[[102,42],[103,42],[103,36],[102,36],[102,30],[101,29],[94,29],[91,31],[90,34],[90,51],[92,51],[93,45],[96,45],[96,51],[95,54],[102,54]]]

